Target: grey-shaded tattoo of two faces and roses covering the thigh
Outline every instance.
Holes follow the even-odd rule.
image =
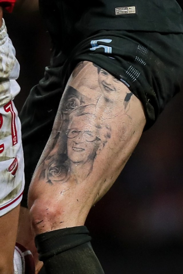
[[[73,75],[77,77],[83,67],[85,62],[76,67]],[[122,83],[98,66],[97,70],[94,79],[98,82],[97,92],[86,96],[88,93],[79,92],[73,81],[73,86],[68,85],[62,96],[57,125],[53,126],[55,136],[52,136],[52,146],[41,163],[40,178],[49,184],[64,183],[70,179],[78,182],[78,179],[84,180],[89,176],[97,155],[111,138],[112,120],[109,119],[122,114],[130,102],[131,92],[125,95],[122,108],[123,104],[119,102]],[[126,140],[131,122],[130,116],[124,114],[118,131],[119,140]]]

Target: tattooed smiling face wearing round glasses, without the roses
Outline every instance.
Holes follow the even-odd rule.
[[[110,138],[110,128],[98,121],[94,105],[77,109],[69,120],[66,132],[68,158],[74,164],[92,167],[98,152]]]

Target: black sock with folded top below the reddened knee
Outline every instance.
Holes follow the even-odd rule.
[[[47,274],[104,274],[85,226],[39,234],[35,244]]]

